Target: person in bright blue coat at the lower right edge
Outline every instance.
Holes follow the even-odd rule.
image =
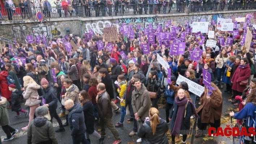
[[[251,93],[248,95],[246,99],[246,105],[240,112],[234,113],[231,112],[229,113],[231,117],[234,117],[235,119],[243,119],[246,118],[246,129],[248,130],[249,127],[256,127],[255,122],[256,122],[256,88],[253,88],[251,90]],[[246,138],[245,144],[249,144],[250,141],[252,141],[252,144],[256,144],[254,142],[255,138],[252,138],[249,136],[249,139]]]

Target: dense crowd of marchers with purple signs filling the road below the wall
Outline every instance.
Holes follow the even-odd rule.
[[[220,127],[222,99],[228,99],[222,96],[222,88],[226,88],[224,93],[232,93],[232,103],[239,105],[241,112],[244,111],[243,106],[246,110],[254,111],[256,101],[252,91],[256,86],[256,62],[253,56],[256,44],[255,39],[252,39],[251,48],[254,49],[248,52],[243,45],[243,35],[249,31],[255,34],[255,29],[251,25],[246,29],[239,27],[239,34],[233,36],[232,32],[217,30],[217,25],[210,24],[209,30],[214,31],[213,39],[217,40],[215,47],[205,47],[210,39],[208,33],[202,33],[203,43],[199,44],[195,33],[186,29],[190,29],[188,24],[183,26],[178,23],[176,36],[173,37],[181,38],[181,33],[186,33],[185,51],[180,56],[170,54],[173,39],[169,40],[169,46],[165,46],[157,36],[150,43],[149,54],[144,54],[141,44],[147,44],[149,39],[145,31],[138,27],[131,27],[134,39],[120,30],[118,39],[104,42],[102,48],[98,45],[103,40],[100,34],[92,34],[89,40],[86,40],[86,36],[80,38],[70,34],[64,37],[66,40],[60,36],[49,42],[43,39],[39,43],[5,44],[0,55],[0,108],[5,113],[0,115],[0,124],[7,134],[4,140],[12,140],[18,131],[3,119],[8,117],[6,109],[17,112],[15,118],[21,117],[19,112],[25,113],[25,116],[28,114],[20,108],[19,99],[26,99],[25,105],[30,109],[29,123],[22,128],[28,131],[28,143],[57,143],[51,123],[48,122],[55,118],[59,123],[55,132],[64,132],[64,127],[70,126],[74,144],[90,143],[90,136],[103,143],[105,127],[110,129],[116,139],[113,144],[119,144],[118,127],[125,125],[126,111],[129,110],[126,121],[133,122],[129,136],[137,134],[138,143],[167,144],[165,133],[170,124],[171,143],[174,144],[179,130],[189,130],[189,121],[195,117],[199,118],[197,126],[200,130],[205,130],[209,124],[216,129]],[[165,27],[161,32],[170,31],[170,27]],[[224,45],[221,44],[218,38],[226,39],[227,36],[234,39],[233,43],[228,45],[225,40]],[[68,49],[67,43],[72,43],[72,49]],[[112,51],[107,48],[109,44],[112,45]],[[191,60],[190,51],[198,47],[203,51],[200,59]],[[122,58],[121,53],[127,57]],[[26,60],[21,61],[22,58]],[[171,74],[159,63],[160,58],[168,63]],[[212,88],[208,91],[209,88],[204,87],[201,97],[189,91],[187,82],[176,83],[179,75],[182,75],[204,86],[203,70],[210,73]],[[167,79],[171,79],[171,82],[167,82]],[[248,85],[249,88],[246,88]],[[166,117],[162,118],[158,111],[160,97],[167,100]],[[62,105],[59,115],[56,113],[58,101]],[[116,105],[118,102],[120,108]],[[196,111],[197,104],[200,106]],[[116,124],[112,122],[113,112],[121,112],[120,121]],[[35,119],[34,114],[37,115]],[[252,112],[252,115],[254,119],[256,114]],[[65,123],[60,121],[60,117],[65,117]],[[235,114],[234,117],[246,118],[247,115]],[[4,124],[2,121],[5,121]],[[94,130],[94,123],[101,127],[100,133]],[[48,127],[51,135],[47,137],[48,133],[44,129]],[[45,139],[33,133],[38,128]],[[187,135],[182,137],[182,143],[185,143]]]

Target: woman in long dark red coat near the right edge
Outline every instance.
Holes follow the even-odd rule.
[[[251,68],[248,63],[247,58],[242,58],[240,65],[236,68],[234,75],[231,78],[231,83],[233,84],[232,90],[234,90],[234,96],[242,96],[243,90],[246,86],[241,86],[240,82],[249,79],[251,75]]]

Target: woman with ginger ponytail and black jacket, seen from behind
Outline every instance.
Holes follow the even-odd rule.
[[[168,144],[165,133],[168,131],[168,124],[159,117],[159,111],[152,107],[149,109],[149,119],[138,131],[138,137],[141,138],[141,144]]]

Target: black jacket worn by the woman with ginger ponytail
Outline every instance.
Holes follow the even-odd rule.
[[[168,139],[165,136],[168,129],[167,122],[164,119],[160,119],[160,123],[157,125],[153,135],[150,121],[146,121],[138,131],[138,137],[142,140],[141,144],[168,144]]]

